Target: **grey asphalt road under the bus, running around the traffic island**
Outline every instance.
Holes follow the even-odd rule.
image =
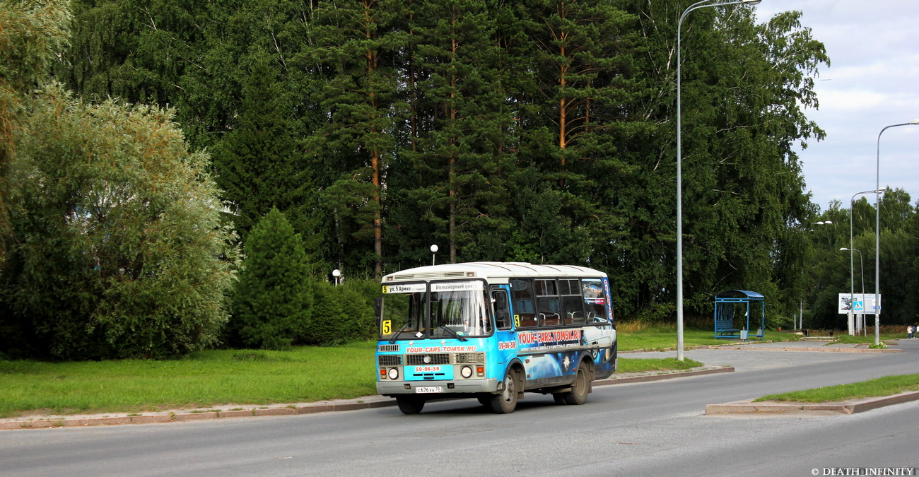
[[[736,372],[596,387],[583,406],[528,394],[511,415],[463,400],[428,403],[421,415],[384,407],[0,431],[0,475],[804,476],[845,468],[913,470],[919,468],[919,403],[857,415],[703,414],[708,403],[919,372],[919,340],[900,347],[904,353],[687,351],[687,358],[732,365]]]

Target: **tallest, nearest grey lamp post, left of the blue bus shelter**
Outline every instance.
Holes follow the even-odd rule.
[[[721,2],[713,4],[714,0],[702,0],[690,5],[680,16],[676,23],[676,359],[684,361],[686,358],[683,353],[683,147],[682,147],[682,111],[680,86],[682,85],[680,77],[680,32],[683,28],[683,18],[693,10],[705,8],[707,6],[729,6],[729,5],[756,5],[762,0],[734,0],[732,2]]]

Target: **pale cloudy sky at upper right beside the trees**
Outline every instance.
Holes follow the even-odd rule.
[[[884,131],[879,147],[878,135],[919,119],[919,0],[763,0],[755,8],[759,22],[799,10],[830,58],[815,80],[820,108],[806,110],[826,139],[797,148],[811,201],[848,209],[879,176],[880,187],[902,188],[915,204],[919,125]]]

